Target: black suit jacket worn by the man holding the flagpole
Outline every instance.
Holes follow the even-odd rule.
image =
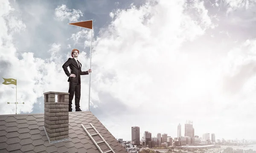
[[[81,65],[80,62],[79,62],[79,64]],[[67,69],[68,66],[70,67],[70,72]],[[81,65],[81,67],[82,67],[82,65]],[[78,68],[78,64],[77,64],[75,58],[69,58],[67,60],[67,62],[65,62],[62,65],[62,68],[63,68],[65,74],[67,75],[67,77],[69,77],[68,80],[67,80],[68,82],[79,82],[79,83],[81,83],[80,75],[89,74],[88,71],[81,71],[81,67]],[[71,74],[75,74],[76,77],[70,77]]]

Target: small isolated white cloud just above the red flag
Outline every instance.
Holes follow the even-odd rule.
[[[55,17],[61,21],[65,19],[68,19],[70,22],[77,21],[79,17],[82,17],[82,16],[83,16],[83,13],[80,10],[68,9],[67,6],[64,4],[55,8]]]

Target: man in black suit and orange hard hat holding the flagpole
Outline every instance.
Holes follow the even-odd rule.
[[[81,71],[81,63],[78,61],[79,50],[73,49],[71,52],[71,56],[73,58],[69,58],[67,62],[62,66],[65,74],[67,75],[69,82],[69,111],[72,112],[72,100],[75,94],[75,105],[76,111],[81,111],[80,109],[80,96],[81,96],[81,78],[80,75],[87,75],[91,72],[91,69],[88,71]],[[70,67],[70,72],[67,67]]]

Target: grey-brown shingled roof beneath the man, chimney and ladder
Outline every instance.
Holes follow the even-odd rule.
[[[44,131],[44,113],[0,115],[0,153],[100,153],[84,131],[90,123],[98,130],[115,153],[127,153],[108,129],[90,111],[69,112],[70,141],[49,144]],[[93,129],[88,129],[93,134]],[[93,136],[96,142],[102,141]],[[105,143],[102,151],[110,150]],[[111,153],[111,152],[110,152]]]

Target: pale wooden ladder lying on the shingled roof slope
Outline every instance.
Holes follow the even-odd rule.
[[[101,152],[101,153],[110,153],[110,152],[112,152],[112,153],[115,153],[114,152],[114,150],[109,146],[109,144],[105,141],[105,139],[100,135],[100,133],[96,130],[96,128],[92,125],[92,123],[90,123],[90,126],[91,127],[84,127],[84,125],[83,124],[81,124],[82,125],[82,127],[84,128],[84,130],[85,130],[85,132],[88,134],[88,136],[90,137],[90,139],[92,139],[92,141],[93,141],[93,143],[96,145],[96,147],[99,149],[99,151]],[[95,130],[95,134],[90,134],[88,131],[87,131],[87,129],[90,129],[90,128],[93,128],[93,130]],[[100,142],[96,142],[94,139],[93,139],[93,136],[99,136],[103,141],[100,141]],[[99,147],[99,145],[98,144],[100,144],[100,143],[103,143],[103,142],[105,142],[105,144],[108,146],[108,148],[110,149],[110,150],[108,150],[108,151],[106,151],[106,152],[103,152],[102,151],[102,149]]]

